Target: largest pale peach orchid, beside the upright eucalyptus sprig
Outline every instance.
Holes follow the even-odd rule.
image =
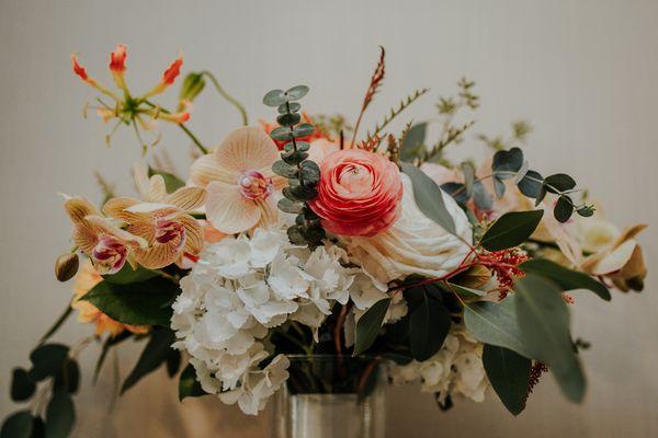
[[[272,172],[276,160],[272,139],[258,128],[243,127],[192,164],[192,182],[207,189],[206,216],[213,227],[234,234],[276,220],[272,195],[285,184]]]

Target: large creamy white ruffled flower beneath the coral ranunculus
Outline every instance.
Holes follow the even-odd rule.
[[[464,241],[472,241],[468,218],[450,195],[442,192],[461,239],[420,211],[411,181],[405,174],[401,177],[405,194],[400,218],[376,235],[341,238],[350,257],[360,261],[365,270],[384,284],[410,274],[441,277],[460,266],[469,252]]]

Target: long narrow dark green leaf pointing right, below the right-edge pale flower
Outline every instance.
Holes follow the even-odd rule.
[[[605,301],[610,301],[610,290],[601,281],[587,274],[569,269],[546,258],[533,258],[519,265],[526,274],[536,274],[553,280],[563,290],[588,289]]]

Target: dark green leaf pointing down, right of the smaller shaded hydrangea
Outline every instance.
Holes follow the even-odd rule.
[[[532,361],[511,349],[485,344],[483,364],[504,407],[519,415],[525,407]]]

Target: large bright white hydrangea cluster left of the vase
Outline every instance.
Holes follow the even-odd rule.
[[[353,269],[344,252],[314,252],[290,243],[285,231],[257,229],[251,238],[226,238],[207,246],[173,303],[175,348],[188,351],[208,393],[256,415],[287,379],[287,359],[270,356],[268,330],[286,320],[316,330],[334,302],[347,303]]]

